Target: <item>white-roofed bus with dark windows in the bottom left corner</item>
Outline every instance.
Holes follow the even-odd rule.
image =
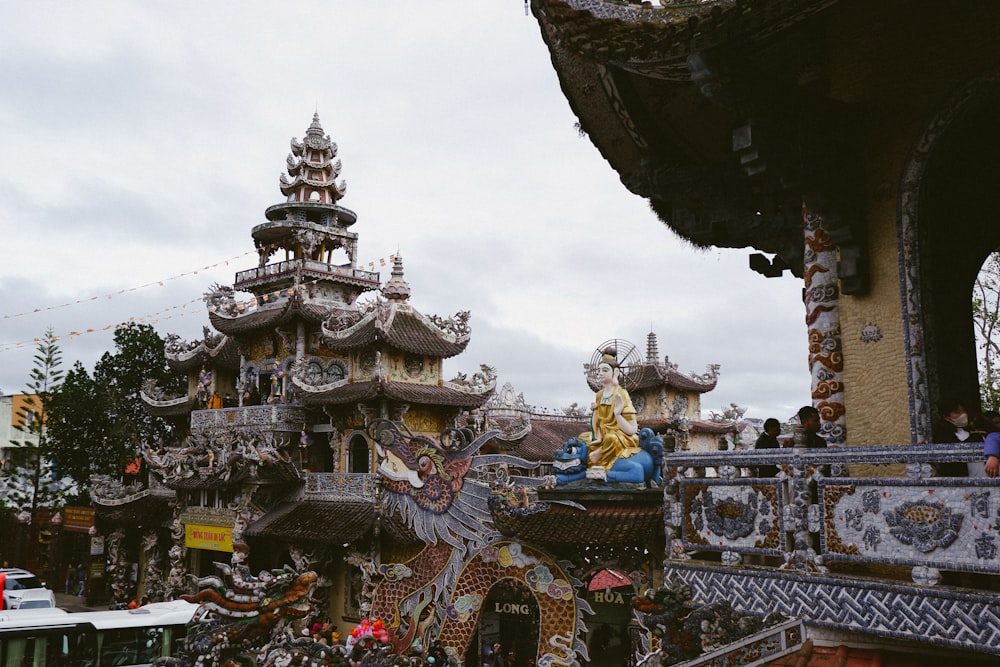
[[[138,609],[0,612],[0,667],[123,667],[174,655],[198,605],[183,600]]]

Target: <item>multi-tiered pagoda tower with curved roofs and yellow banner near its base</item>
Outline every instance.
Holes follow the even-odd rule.
[[[176,419],[182,437],[151,443],[141,497],[95,490],[121,561],[111,570],[139,562],[150,574],[138,592],[153,599],[184,592],[185,575],[212,574],[215,561],[249,558],[262,568],[292,559],[322,573],[331,611],[356,614],[357,591],[344,592],[347,553],[378,551],[383,539],[419,542],[378,517],[366,424],[390,417],[437,435],[493,391],[488,367],[472,378],[442,377],[442,360],[469,343],[467,311],[439,318],[416,310],[398,255],[388,258],[384,286],[359,266],[357,215],[339,203],[340,170],[337,145],[315,115],[305,137],[292,139],[280,178],[285,201],[251,232],[257,266],[206,294],[214,331],[194,342],[168,338],[168,361],[187,373],[187,394],[146,388],[149,411]],[[365,292],[374,298],[359,300]],[[165,512],[134,521],[151,503]],[[136,593],[117,582],[117,596]]]

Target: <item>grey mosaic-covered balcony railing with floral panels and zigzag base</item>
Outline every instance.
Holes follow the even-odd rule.
[[[997,483],[933,476],[982,460],[981,444],[668,454],[664,576],[813,636],[1000,654]]]

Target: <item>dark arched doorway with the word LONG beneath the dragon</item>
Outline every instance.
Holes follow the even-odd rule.
[[[538,602],[528,586],[515,579],[501,579],[483,602],[465,664],[491,664],[492,647],[500,644],[511,667],[527,667],[538,650],[538,626]]]

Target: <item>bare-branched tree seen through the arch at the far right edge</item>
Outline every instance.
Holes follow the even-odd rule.
[[[979,393],[984,410],[1000,410],[1000,253],[989,256],[972,290],[972,322],[979,347]]]

